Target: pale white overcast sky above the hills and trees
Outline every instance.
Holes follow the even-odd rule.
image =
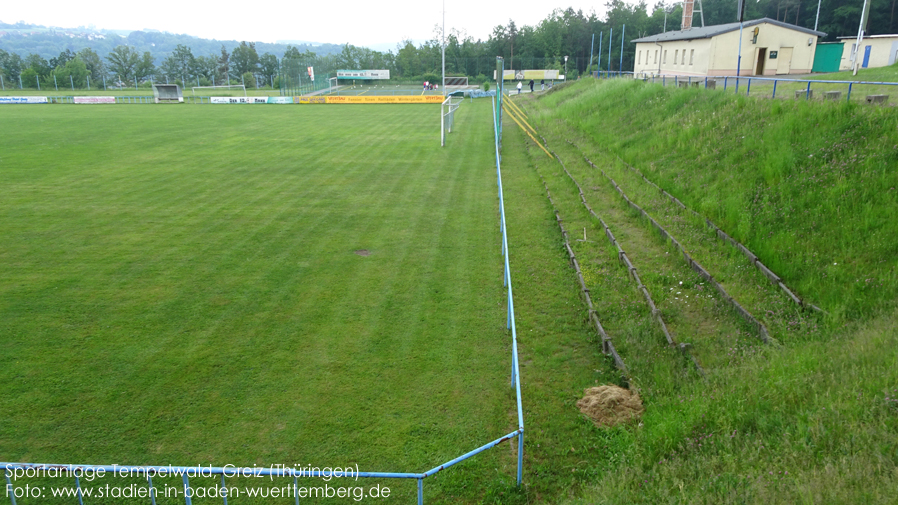
[[[271,0],[240,2],[122,2],[121,0],[44,0],[4,2],[0,21],[75,28],[94,25],[102,29],[155,29],[219,40],[275,42],[304,40],[350,43],[356,46],[395,44],[404,38],[431,39],[434,26],[442,24],[443,4],[434,1],[343,0],[333,3]],[[496,25],[513,19],[518,26],[536,25],[555,8],[595,9],[604,17],[604,1],[518,0],[517,2],[446,2],[446,30],[463,30],[475,39],[486,39]],[[2,45],[2,44],[0,44]]]

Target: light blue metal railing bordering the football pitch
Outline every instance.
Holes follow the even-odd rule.
[[[152,98],[152,97],[150,97]],[[501,100],[501,93],[497,93],[496,100]],[[431,468],[430,470],[423,473],[394,473],[394,472],[358,472],[356,471],[353,477],[359,478],[380,478],[380,479],[415,479],[418,485],[418,505],[423,505],[424,503],[424,479],[428,477],[432,477],[437,473],[454,466],[468,458],[471,458],[483,451],[491,449],[502,442],[510,441],[511,439],[517,437],[518,439],[518,469],[517,469],[517,483],[521,484],[523,478],[523,467],[524,467],[524,411],[521,405],[521,375],[520,369],[518,366],[518,339],[517,339],[517,329],[515,327],[515,317],[514,317],[514,298],[512,295],[511,289],[511,268],[508,263],[508,234],[506,233],[506,224],[505,224],[505,196],[502,191],[502,168],[501,168],[501,156],[500,156],[500,135],[501,135],[501,127],[499,125],[499,116],[496,115],[496,102],[492,102],[493,104],[493,133],[494,133],[494,147],[495,147],[495,155],[496,155],[496,180],[499,187],[499,211],[500,211],[500,221],[499,227],[502,233],[502,255],[503,255],[503,263],[504,263],[504,275],[503,275],[503,283],[507,288],[507,296],[508,296],[508,315],[506,328],[511,330],[511,385],[515,388],[515,398],[516,398],[516,406],[518,413],[518,428],[507,435],[504,435],[500,438],[497,438],[491,442],[488,442],[480,447],[467,452],[455,459],[447,461],[442,465]],[[77,498],[79,505],[83,505],[83,493],[81,490],[81,481],[79,479],[79,475],[83,476],[86,473],[93,473],[96,475],[97,472],[103,471],[106,473],[110,473],[115,475],[115,472],[124,472],[124,474],[128,476],[145,476],[147,479],[147,487],[148,494],[147,496],[150,498],[151,503],[155,505],[155,488],[153,487],[152,477],[154,475],[168,475],[168,476],[178,476],[182,477],[183,486],[184,486],[184,503],[186,505],[192,505],[192,497],[193,493],[191,492],[190,487],[190,476],[202,476],[202,477],[210,477],[210,476],[221,476],[221,485],[224,488],[225,477],[228,476],[240,476],[240,475],[259,475],[259,476],[271,476],[271,477],[284,477],[289,478],[293,477],[293,489],[294,496],[296,497],[296,504],[299,505],[299,495],[296,493],[297,489],[297,478],[322,478],[326,477],[321,470],[312,470],[307,471],[305,469],[296,470],[294,468],[289,467],[271,467],[271,468],[261,468],[261,467],[252,467],[252,468],[240,468],[240,467],[184,467],[184,466],[111,466],[111,465],[68,465],[68,464],[47,464],[47,463],[0,463],[0,468],[3,469],[4,476],[6,477],[6,488],[5,495],[9,497],[12,505],[16,505],[16,491],[15,486],[13,485],[12,479],[10,477],[15,477],[17,472],[46,472],[50,470],[54,470],[56,472],[67,472],[68,476],[74,476],[75,478],[75,487],[77,490]],[[119,473],[121,475],[121,473]],[[227,493],[222,497],[224,505],[227,505],[228,498]]]

